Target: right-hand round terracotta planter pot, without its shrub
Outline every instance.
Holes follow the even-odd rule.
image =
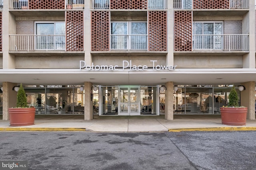
[[[224,125],[246,125],[247,107],[220,107],[220,114]]]

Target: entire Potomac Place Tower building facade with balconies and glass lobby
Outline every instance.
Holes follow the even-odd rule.
[[[4,120],[21,83],[37,114],[85,120],[220,114],[236,86],[247,119],[255,119],[256,2],[0,2]]]

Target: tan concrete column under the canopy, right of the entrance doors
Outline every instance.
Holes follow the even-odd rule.
[[[173,120],[173,82],[165,84],[165,116],[167,120]]]

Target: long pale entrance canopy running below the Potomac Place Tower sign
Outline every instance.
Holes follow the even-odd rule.
[[[255,81],[250,68],[179,69],[172,71],[87,71],[80,69],[2,69],[1,81],[23,84],[93,84],[157,85],[174,84],[240,84]],[[0,82],[0,84],[2,84]]]

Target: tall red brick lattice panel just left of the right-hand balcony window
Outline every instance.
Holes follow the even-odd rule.
[[[174,12],[174,51],[192,51],[192,12]]]

